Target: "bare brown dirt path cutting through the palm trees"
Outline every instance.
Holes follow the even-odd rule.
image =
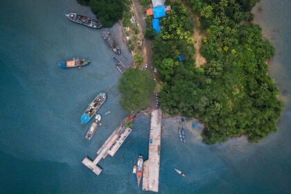
[[[182,1],[188,12],[190,13],[191,17],[195,19],[195,26],[193,28],[193,40],[194,40],[194,48],[195,48],[195,54],[193,58],[195,59],[195,67],[201,67],[204,64],[206,64],[206,59],[201,55],[200,48],[202,45],[202,39],[206,36],[205,34],[200,32],[199,26],[200,26],[200,19],[198,16],[195,16],[191,10],[191,8],[188,6],[188,3],[186,0]]]

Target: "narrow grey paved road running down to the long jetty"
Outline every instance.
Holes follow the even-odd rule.
[[[141,12],[141,5],[139,4],[139,0],[133,0],[132,2],[133,2],[134,10],[136,12],[136,17],[137,17],[137,21],[139,23],[139,27],[141,28],[141,30],[143,32],[143,37],[144,37],[144,35],[145,35],[145,19],[143,17],[145,17],[145,16],[143,15],[143,12]],[[150,71],[152,71],[153,78],[158,80],[157,75],[153,71],[153,68],[152,68],[152,48],[150,46],[149,39],[145,39],[145,53],[146,53],[146,58],[147,58],[146,63],[148,64],[148,69],[150,69]],[[155,94],[150,96],[150,107],[156,108],[156,96],[155,96]]]

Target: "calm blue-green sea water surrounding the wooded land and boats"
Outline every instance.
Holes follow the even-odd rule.
[[[144,193],[136,188],[132,166],[139,154],[148,157],[148,116],[139,116],[116,155],[100,162],[100,176],[81,164],[85,156],[95,157],[125,116],[118,104],[121,75],[102,30],[64,17],[91,15],[89,8],[73,0],[1,0],[0,7],[0,193]],[[187,130],[182,144],[177,121],[164,121],[159,193],[291,193],[291,1],[263,0],[258,7],[255,22],[276,46],[270,74],[285,104],[279,131],[258,144],[241,138],[209,146],[199,132]],[[58,67],[74,56],[91,64]],[[126,48],[121,59],[130,62]],[[107,129],[86,141],[89,125],[79,118],[100,92],[108,97],[99,111]]]

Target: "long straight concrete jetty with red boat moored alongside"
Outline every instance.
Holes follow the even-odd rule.
[[[159,159],[161,150],[161,109],[152,111],[148,160],[143,163],[143,191],[159,191]]]

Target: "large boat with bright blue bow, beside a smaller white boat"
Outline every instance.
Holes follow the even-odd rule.
[[[101,105],[106,100],[106,94],[100,93],[96,98],[93,100],[93,102],[87,107],[84,114],[82,114],[80,121],[82,124],[88,123],[88,121],[91,120],[92,116],[97,112],[97,110],[101,107]]]

